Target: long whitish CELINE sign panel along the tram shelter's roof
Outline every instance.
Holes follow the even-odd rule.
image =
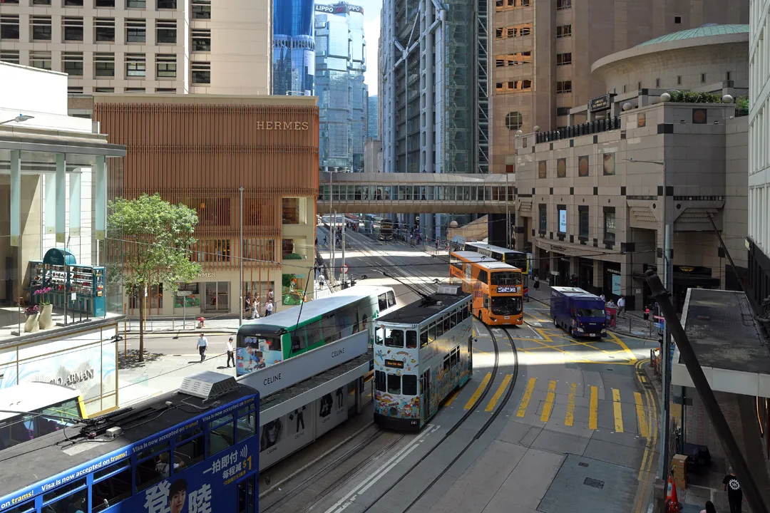
[[[366,355],[368,349],[369,331],[360,331],[313,351],[269,365],[259,371],[253,371],[241,376],[238,381],[243,385],[256,388],[259,390],[259,395],[265,398],[353,358]]]

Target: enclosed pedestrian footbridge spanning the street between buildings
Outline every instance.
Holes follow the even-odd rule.
[[[506,203],[514,202],[515,177],[321,172],[317,212],[504,214]]]

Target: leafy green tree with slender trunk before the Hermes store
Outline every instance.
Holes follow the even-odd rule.
[[[172,205],[159,194],[143,194],[109,202],[107,229],[121,234],[126,251],[122,281],[129,291],[139,291],[139,361],[144,360],[145,290],[163,284],[176,292],[200,274],[200,265],[189,260],[198,215],[186,205]]]

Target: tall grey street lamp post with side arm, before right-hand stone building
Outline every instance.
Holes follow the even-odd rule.
[[[663,98],[664,95],[668,95],[668,93],[663,93],[661,95],[661,100],[664,102],[668,102],[668,99],[670,99],[670,96],[668,99]],[[644,164],[655,164],[655,165],[661,165],[663,166],[663,226],[665,230],[664,238],[663,238],[663,281],[666,291],[671,293],[671,289],[673,288],[673,281],[674,281],[674,261],[673,261],[673,255],[671,251],[671,246],[674,242],[674,230],[672,225],[668,222],[668,196],[666,195],[666,163],[665,162],[657,162],[654,160],[636,160],[634,158],[625,158],[624,159],[627,162],[641,162]],[[662,381],[662,388],[663,388],[663,401],[661,401],[661,440],[663,441],[663,447],[661,448],[661,455],[660,455],[660,476],[663,481],[666,481],[668,478],[668,459],[670,458],[670,455],[668,454],[668,438],[669,438],[669,417],[671,415],[671,411],[669,409],[669,397],[670,397],[670,389],[671,389],[671,376],[668,374],[669,363],[669,353],[671,353],[671,331],[669,331],[668,328],[668,322],[665,322],[663,325],[663,345],[661,347],[661,367],[663,370],[661,371],[661,381]]]

